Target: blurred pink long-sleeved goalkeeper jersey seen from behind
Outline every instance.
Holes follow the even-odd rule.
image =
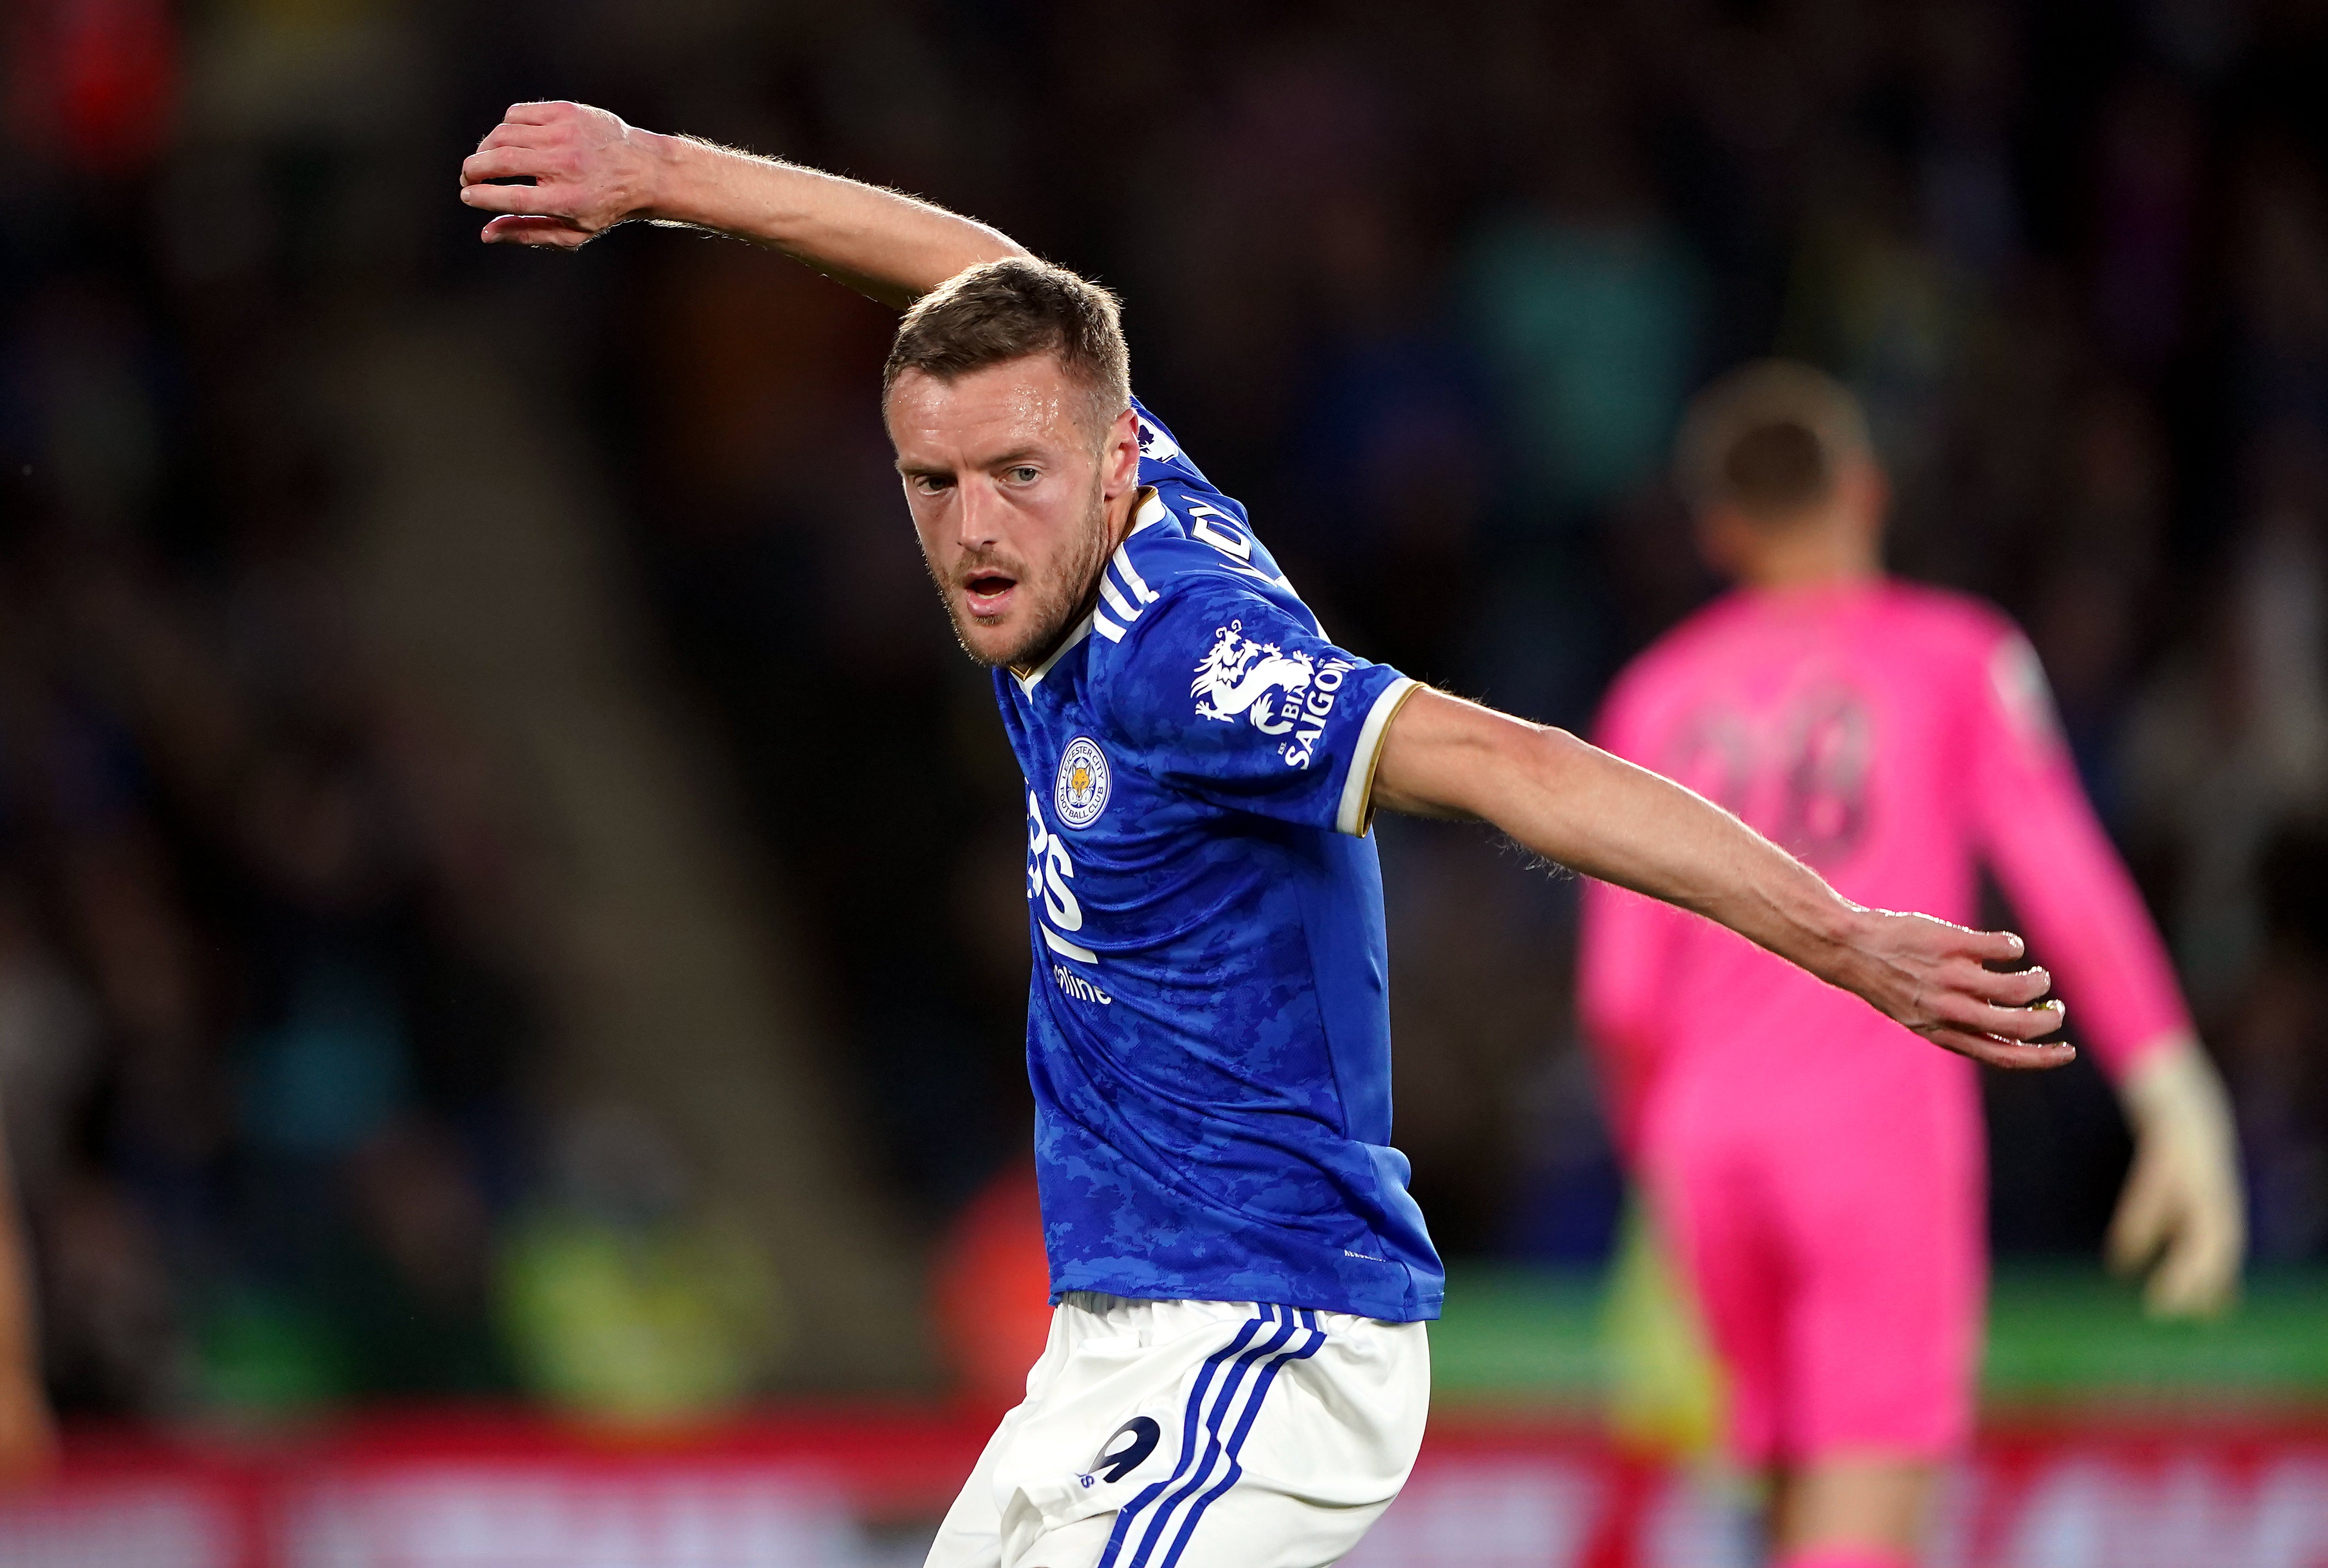
[[[1986,605],[1900,582],[1737,591],[1625,670],[1595,740],[1734,810],[1862,905],[1974,924],[1988,865],[2070,1005],[2065,1038],[2114,1077],[2188,1026],[2037,654]],[[1681,1124],[1776,1112],[1804,1128],[1820,1103],[1865,1107],[1867,1077],[1935,1084],[1979,1131],[1958,1059],[1711,921],[1599,882],[1578,989],[1634,1152],[1644,1119],[1653,1142],[1658,1124],[1678,1131],[1676,1093]]]

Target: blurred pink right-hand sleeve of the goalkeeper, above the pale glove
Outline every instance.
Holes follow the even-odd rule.
[[[1981,851],[2060,979],[2067,1035],[2125,1077],[2149,1047],[2191,1028],[2165,942],[2077,779],[2037,649],[2002,630],[1974,686]]]

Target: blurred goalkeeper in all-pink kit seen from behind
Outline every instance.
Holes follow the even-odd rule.
[[[1690,784],[1848,898],[1969,919],[1986,863],[2079,1003],[2135,1168],[2111,1226],[2151,1305],[2219,1307],[2242,1252],[2216,1084],[2158,933],[2086,805],[2028,640],[1883,577],[1851,393],[1748,365],[1683,428],[1709,563],[1744,586],[1618,679],[1597,740]],[[1620,1142],[1772,1473],[1783,1568],[1914,1559],[1972,1424],[1986,1277],[1972,1072],[1727,931],[1588,886],[1581,1005]]]

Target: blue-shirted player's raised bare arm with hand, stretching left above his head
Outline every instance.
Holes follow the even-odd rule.
[[[896,307],[964,268],[1027,254],[910,195],[656,135],[577,102],[510,105],[461,163],[461,200],[498,214],[484,226],[487,244],[575,249],[633,219],[684,223],[768,244]]]

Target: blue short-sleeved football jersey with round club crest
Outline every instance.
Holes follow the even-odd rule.
[[[1439,1317],[1390,1147],[1383,730],[1334,647],[1141,416],[1099,605],[994,693],[1027,775],[1027,1072],[1052,1293]]]

